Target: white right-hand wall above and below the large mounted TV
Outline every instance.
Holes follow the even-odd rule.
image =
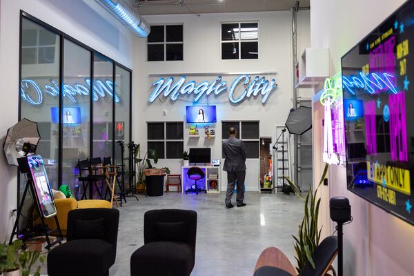
[[[342,55],[402,3],[311,0],[312,47],[329,48],[331,75],[340,72]],[[322,144],[314,150],[322,153]],[[344,226],[344,275],[413,275],[414,227],[348,192],[345,168],[331,166],[329,183],[328,196],[348,197],[352,206],[353,222]]]

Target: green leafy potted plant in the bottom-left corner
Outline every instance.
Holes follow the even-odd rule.
[[[0,273],[3,276],[29,276],[32,266],[39,260],[43,264],[45,256],[32,250],[21,249],[21,240],[12,244],[0,244]],[[33,276],[40,275],[40,266],[37,266]]]

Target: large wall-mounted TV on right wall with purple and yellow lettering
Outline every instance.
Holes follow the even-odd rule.
[[[342,57],[348,190],[410,224],[414,224],[413,19],[411,0]]]

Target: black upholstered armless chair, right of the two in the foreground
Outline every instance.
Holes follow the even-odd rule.
[[[188,276],[195,264],[197,213],[150,210],[144,215],[144,246],[131,256],[131,276]]]

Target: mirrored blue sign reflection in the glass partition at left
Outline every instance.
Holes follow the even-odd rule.
[[[76,103],[77,96],[89,96],[90,79],[85,79],[87,86],[83,86],[80,83],[75,83],[73,86],[63,83],[63,97],[70,99],[73,103]],[[43,88],[32,79],[21,80],[21,99],[28,103],[39,106],[43,102],[43,94],[50,95],[51,97],[57,97],[59,95],[59,83],[50,79],[50,84],[46,84]],[[97,101],[99,98],[103,98],[106,95],[113,97],[113,82],[106,79],[104,81],[96,79],[93,81],[92,99]],[[115,102],[119,103],[119,96],[115,93]]]

